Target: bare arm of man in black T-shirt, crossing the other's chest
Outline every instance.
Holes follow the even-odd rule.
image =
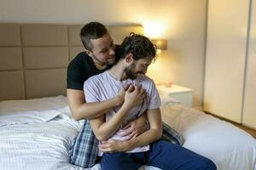
[[[124,102],[125,88],[113,99],[92,103],[84,103],[84,92],[82,90],[67,88],[67,100],[73,118],[79,121],[102,116],[105,112]]]

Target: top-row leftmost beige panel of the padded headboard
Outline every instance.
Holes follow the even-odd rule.
[[[18,24],[0,24],[0,46],[20,46]]]

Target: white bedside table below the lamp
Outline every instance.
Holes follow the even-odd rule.
[[[171,97],[182,102],[184,105],[192,107],[192,89],[172,84],[171,87],[165,85],[156,86],[160,96]]]

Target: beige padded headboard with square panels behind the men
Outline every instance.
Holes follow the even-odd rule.
[[[84,50],[81,26],[0,24],[0,100],[66,95],[67,65]],[[108,26],[115,43],[143,26]]]

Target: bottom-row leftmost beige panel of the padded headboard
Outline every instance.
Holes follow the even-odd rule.
[[[0,100],[25,99],[22,71],[0,71]]]

